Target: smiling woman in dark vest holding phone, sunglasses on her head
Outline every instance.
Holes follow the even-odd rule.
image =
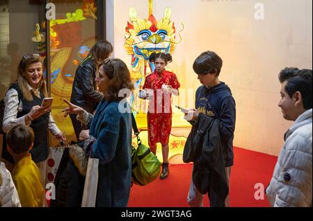
[[[15,124],[29,125],[35,132],[31,158],[37,163],[42,175],[45,175],[45,159],[49,154],[48,130],[58,139],[65,136],[58,129],[51,116],[50,109],[42,109],[42,100],[47,97],[46,82],[42,76],[42,58],[37,53],[24,55],[17,69],[17,82],[6,93],[3,115],[3,132],[8,132]],[[10,163],[12,156],[3,141],[2,157]],[[45,176],[42,177],[45,180]]]

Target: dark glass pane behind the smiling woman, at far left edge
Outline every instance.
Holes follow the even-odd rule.
[[[0,99],[6,95],[10,83],[17,80],[17,66],[23,55],[38,51],[33,37],[36,24],[45,21],[42,1],[0,1]],[[42,48],[45,53],[45,48]],[[0,136],[0,152],[2,136]]]

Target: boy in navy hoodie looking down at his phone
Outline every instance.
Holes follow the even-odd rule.
[[[230,88],[225,85],[224,82],[220,82],[220,80],[218,80],[222,66],[223,60],[214,51],[206,51],[195,60],[193,63],[193,70],[198,74],[198,80],[200,80],[202,86],[199,87],[195,93],[195,109],[189,109],[185,116],[188,121],[191,121],[191,123],[198,121],[198,116],[201,114],[209,120],[219,121],[219,128],[217,130],[219,131],[220,143],[222,144],[225,153],[223,154],[223,158],[214,158],[216,161],[221,160],[215,166],[218,165],[222,168],[213,168],[214,172],[212,173],[219,171],[222,179],[214,180],[214,178],[210,177],[206,177],[206,179],[210,179],[210,185],[216,185],[217,188],[219,188],[218,186],[222,186],[222,184],[218,184],[218,180],[223,180],[223,183],[226,182],[223,186],[227,188],[227,190],[225,191],[225,188],[224,190],[216,190],[222,191],[225,198],[214,197],[216,194],[208,191],[211,206],[229,206],[228,190],[230,185],[230,167],[234,164],[232,141],[234,139],[236,107]],[[197,181],[194,177],[197,164],[201,165],[201,163],[198,163],[197,159],[195,159],[193,166],[193,178],[191,179],[191,186],[188,193],[188,204],[190,206],[202,206],[204,197],[204,195],[199,192],[193,183]],[[200,166],[200,170],[207,169],[208,168]]]

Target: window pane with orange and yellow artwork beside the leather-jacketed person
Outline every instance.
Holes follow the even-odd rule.
[[[52,115],[67,139],[75,140],[72,121],[61,112],[63,98],[70,100],[75,71],[96,42],[97,7],[93,0],[51,3],[56,6],[56,19],[49,24]]]

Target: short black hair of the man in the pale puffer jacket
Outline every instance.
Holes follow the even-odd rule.
[[[299,91],[302,96],[303,107],[305,109],[312,108],[312,70],[285,68],[280,71],[279,78],[281,83],[287,81],[284,90],[290,98],[296,91]]]

